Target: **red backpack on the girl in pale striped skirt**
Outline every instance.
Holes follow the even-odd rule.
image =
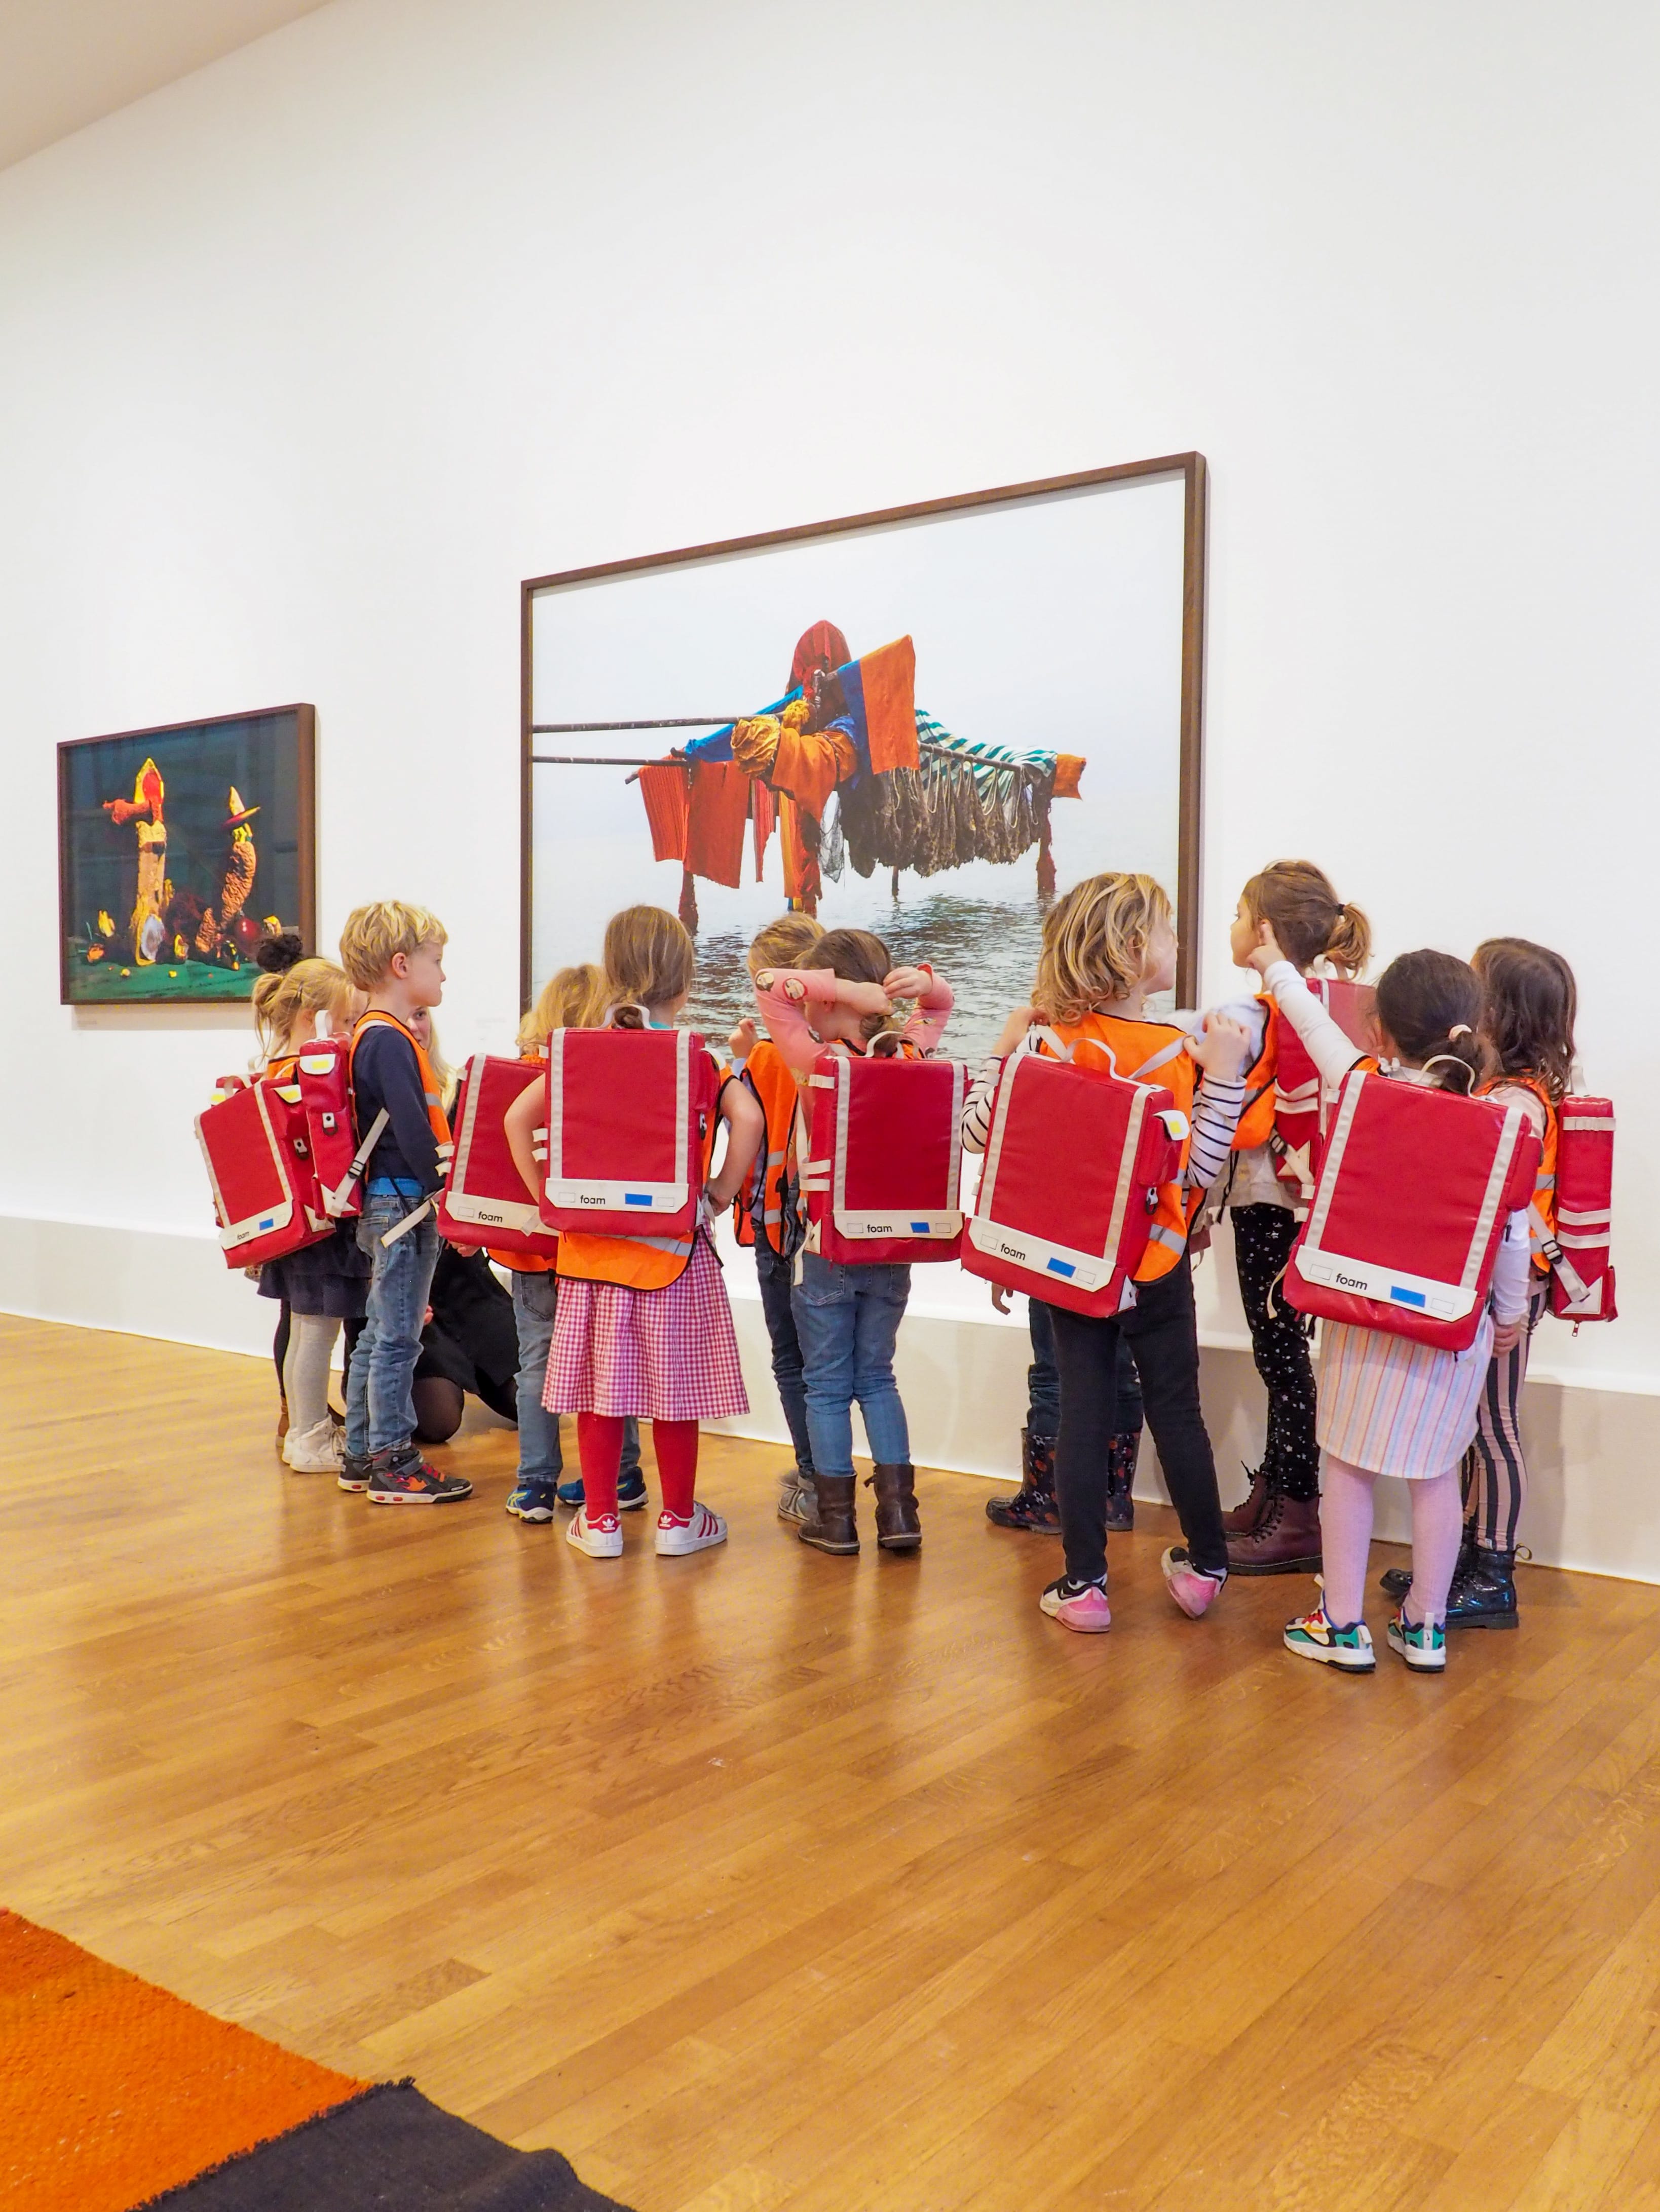
[[[1467,1352],[1540,1144],[1521,1106],[1350,1068],[1286,1263],[1301,1314]]]

